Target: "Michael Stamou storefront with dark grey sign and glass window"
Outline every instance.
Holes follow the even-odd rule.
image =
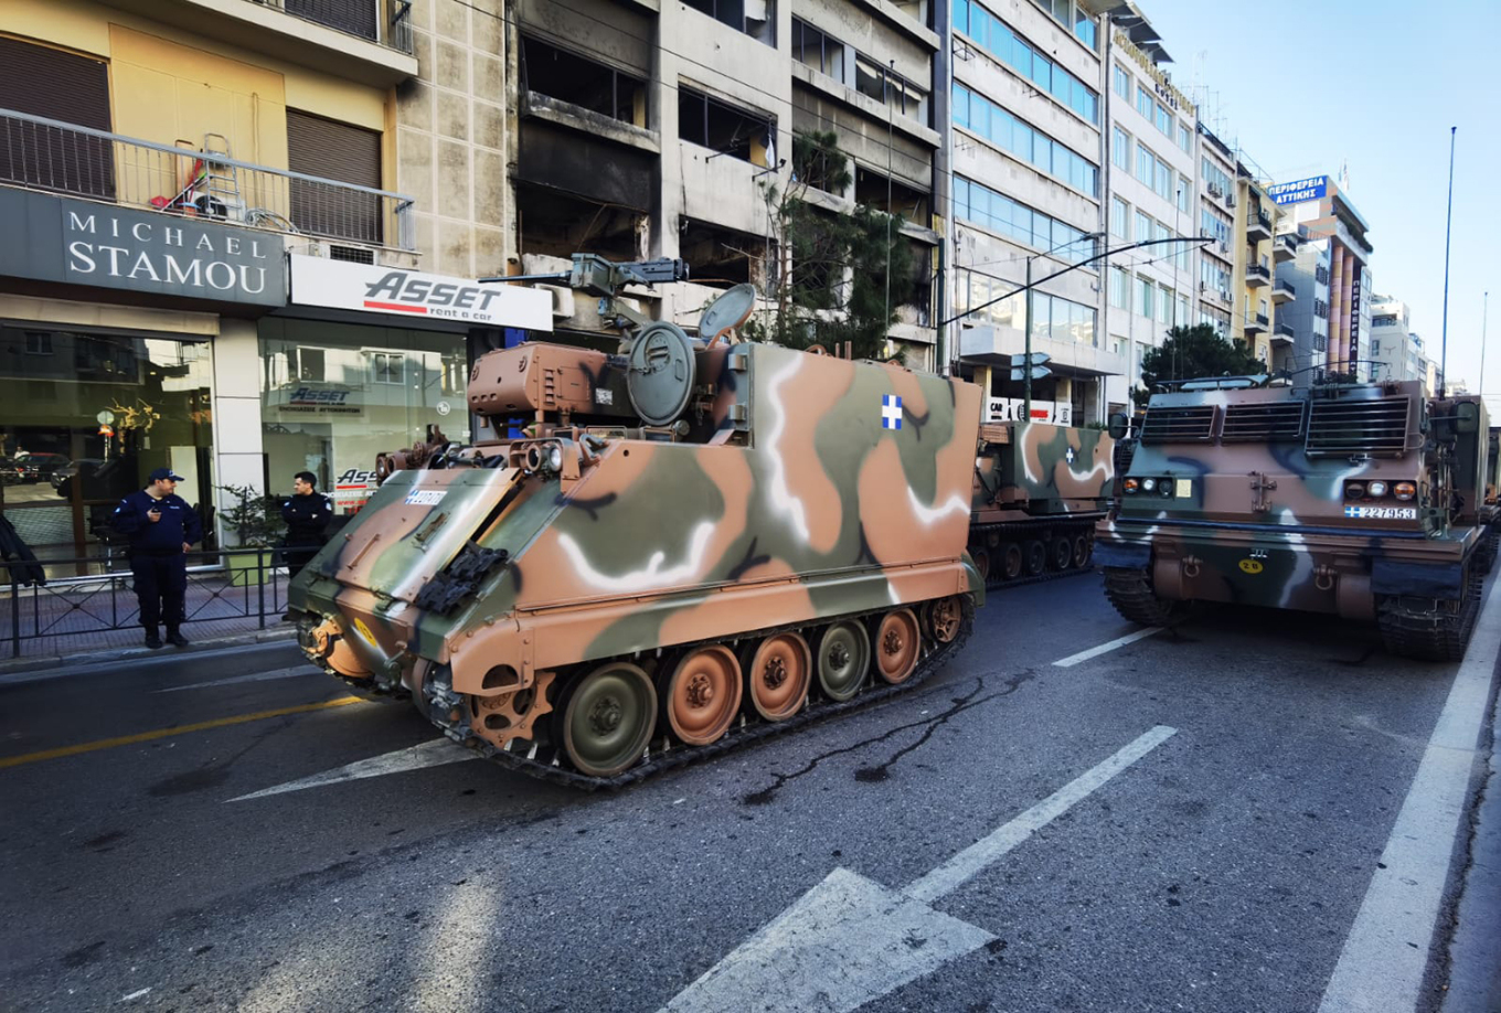
[[[170,467],[212,530],[216,344],[285,305],[282,239],[18,189],[0,231],[0,518],[44,560],[108,566],[114,506]]]

